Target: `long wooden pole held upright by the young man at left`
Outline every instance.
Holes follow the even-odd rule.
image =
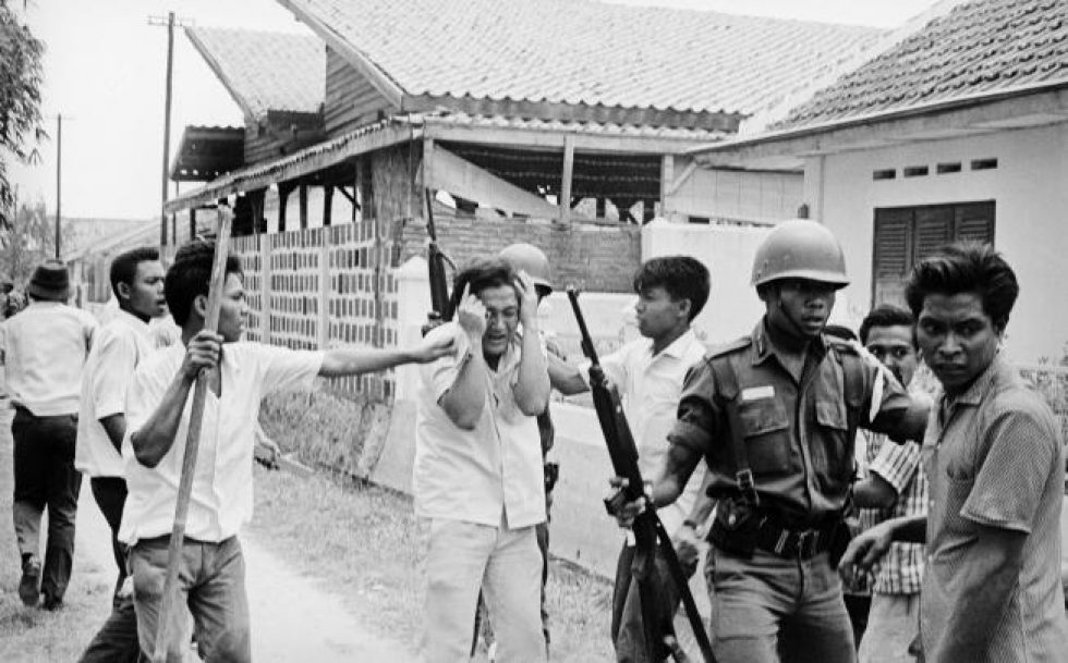
[[[219,208],[219,228],[215,240],[215,260],[211,265],[211,284],[208,288],[208,315],[204,329],[217,331],[219,310],[222,307],[222,286],[227,277],[227,255],[230,247],[230,226],[233,212],[229,207]],[[182,478],[178,483],[178,505],[174,507],[174,528],[171,530],[167,551],[167,576],[163,579],[163,594],[159,602],[159,622],[156,624],[156,651],[153,663],[167,663],[167,642],[170,639],[171,614],[175,607],[178,568],[182,561],[182,543],[185,539],[185,517],[190,511],[190,495],[193,492],[193,475],[196,469],[196,454],[201,446],[201,422],[204,420],[204,400],[207,395],[210,373],[202,370],[196,376],[193,388],[193,409],[190,413],[190,429],[185,438],[185,456],[182,458]]]

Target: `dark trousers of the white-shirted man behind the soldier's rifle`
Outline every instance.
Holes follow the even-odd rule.
[[[670,652],[663,642],[654,644],[652,659],[646,650],[642,599],[638,579],[633,577],[631,569],[635,552],[636,548],[624,543],[616,563],[616,585],[611,596],[611,641],[616,647],[616,661],[620,663],[658,663],[667,659]],[[687,577],[692,576],[693,570],[687,569]],[[670,623],[679,610],[682,594],[671,578],[659,548],[653,557],[652,575],[650,586],[653,588],[651,593],[655,604],[651,614],[656,615],[657,623]]]

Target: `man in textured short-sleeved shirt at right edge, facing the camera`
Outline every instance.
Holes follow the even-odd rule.
[[[969,243],[920,262],[906,288],[920,351],[943,388],[921,446],[930,507],[857,537],[840,568],[870,568],[894,541],[926,542],[927,663],[1068,661],[1060,429],[999,353],[1018,294],[1002,256]]]

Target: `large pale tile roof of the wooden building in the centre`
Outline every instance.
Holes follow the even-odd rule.
[[[279,1],[404,94],[446,100],[749,114],[883,34],[593,0]]]

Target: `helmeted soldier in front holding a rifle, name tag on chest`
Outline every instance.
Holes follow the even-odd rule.
[[[720,661],[855,660],[836,573],[858,427],[918,440],[926,407],[824,327],[849,283],[841,247],[814,221],[777,225],[756,251],[765,314],[687,377],[651,501],[675,502],[704,458],[718,501],[706,574]]]

